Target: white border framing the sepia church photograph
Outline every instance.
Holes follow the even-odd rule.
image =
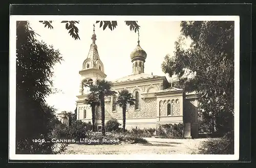
[[[129,155],[45,155],[15,154],[16,123],[16,21],[22,20],[149,20],[182,21],[211,20],[234,21],[234,154],[183,155],[183,154],[129,154]],[[238,160],[239,159],[239,100],[240,100],[240,19],[239,16],[60,16],[60,15],[11,15],[9,48],[9,159],[11,160]]]

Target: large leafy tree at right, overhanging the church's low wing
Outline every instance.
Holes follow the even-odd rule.
[[[183,47],[186,38],[192,41],[188,49]],[[182,78],[186,69],[195,76]],[[214,120],[217,131],[233,130],[233,21],[182,21],[174,55],[166,55],[162,70],[182,78],[180,86],[185,91],[197,92],[204,118]]]

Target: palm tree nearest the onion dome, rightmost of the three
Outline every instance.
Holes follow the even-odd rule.
[[[121,90],[120,92],[118,92],[118,97],[117,97],[117,101],[116,104],[118,104],[120,107],[122,107],[123,110],[123,133],[125,131],[125,120],[126,120],[126,106],[127,104],[130,105],[134,105],[134,101],[136,101],[136,99],[133,98],[132,94],[129,93],[129,91],[127,90]]]

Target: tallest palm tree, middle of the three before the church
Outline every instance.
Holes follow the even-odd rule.
[[[101,107],[101,132],[105,135],[105,96],[111,96],[116,94],[115,91],[112,91],[112,82],[107,81],[105,79],[98,79],[96,80],[95,84],[90,85],[91,93],[98,96],[100,100],[100,107]]]

